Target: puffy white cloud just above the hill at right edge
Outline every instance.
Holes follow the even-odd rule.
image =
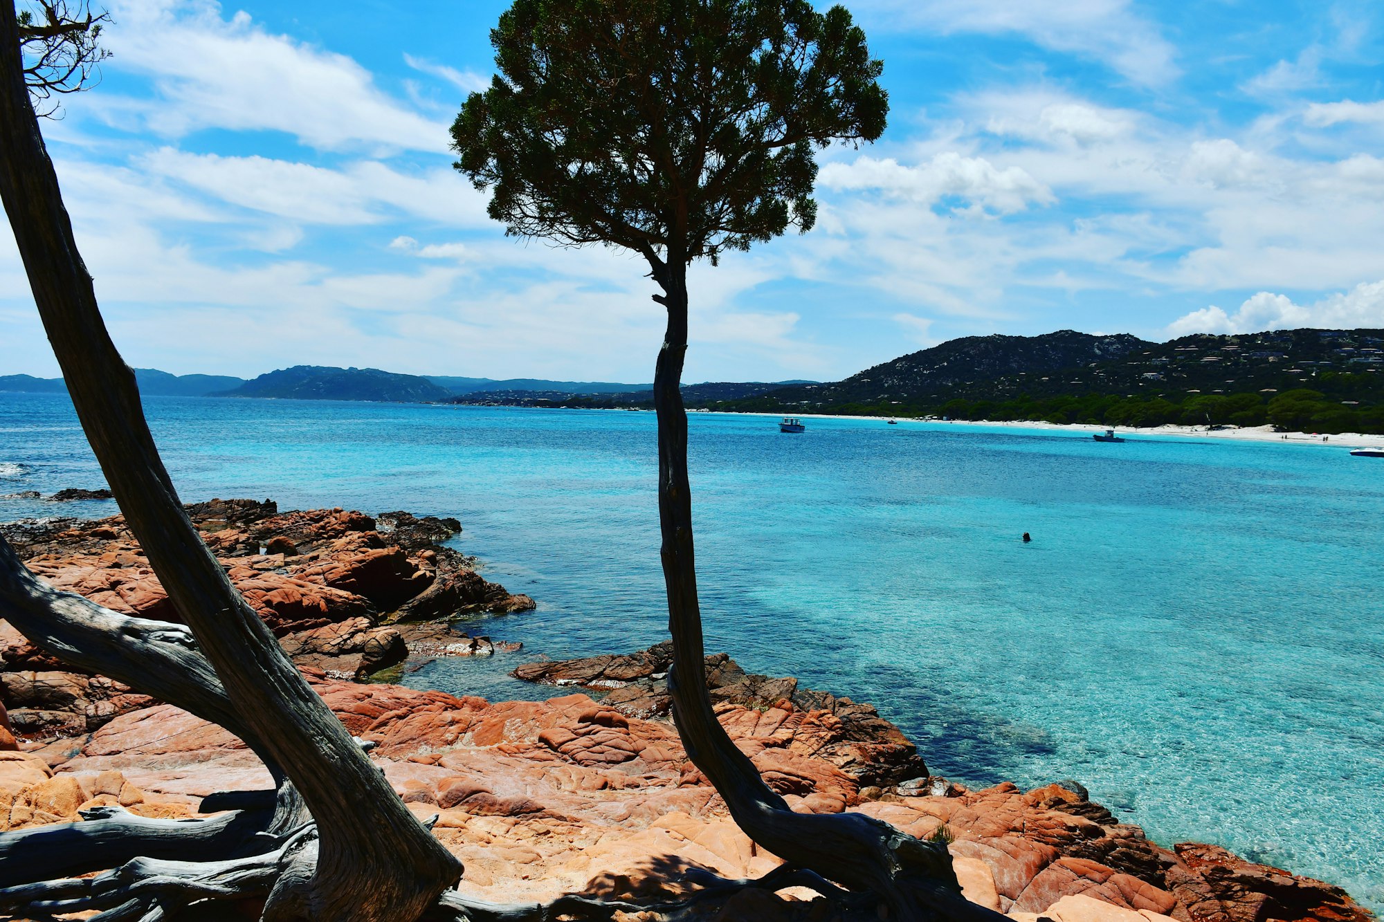
[[[1215,305],[1185,314],[1168,325],[1168,335],[1250,334],[1301,327],[1384,327],[1384,281],[1362,282],[1348,292],[1337,292],[1311,305],[1297,305],[1284,295],[1261,291],[1246,299],[1233,314]]]

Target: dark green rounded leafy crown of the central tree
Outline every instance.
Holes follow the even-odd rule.
[[[807,0],[516,0],[490,42],[455,168],[509,234],[655,273],[808,230],[814,151],[877,138],[889,109],[850,12]]]

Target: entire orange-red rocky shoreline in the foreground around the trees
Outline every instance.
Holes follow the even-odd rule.
[[[188,507],[252,608],[419,817],[466,864],[462,890],[549,900],[662,898],[700,867],[727,878],[778,864],[731,822],[667,718],[668,644],[534,662],[513,676],[567,688],[487,702],[365,684],[406,656],[486,655],[451,619],[533,608],[443,541],[455,519],[270,501]],[[179,620],[120,516],[0,525],[43,579],[119,612]],[[1366,922],[1341,889],[1207,844],[1171,850],[1092,803],[1077,782],[972,790],[933,777],[877,710],[790,677],[706,660],[717,716],[765,781],[814,813],[858,811],[949,840],[967,897],[1052,922]],[[0,622],[0,829],[73,821],[91,806],[190,815],[219,790],[270,779],[224,730],[51,660]],[[7,716],[8,712],[8,716]],[[716,919],[832,918],[803,892],[746,890]]]

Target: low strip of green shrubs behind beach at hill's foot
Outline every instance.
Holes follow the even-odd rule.
[[[1333,375],[1322,375],[1322,386],[1338,393],[1354,390],[1351,385],[1355,382],[1334,382],[1331,378]],[[1333,383],[1338,386],[1333,388]],[[1329,390],[1298,388],[1276,395],[1189,395],[1182,401],[1169,400],[1165,396],[1127,397],[1106,393],[1042,399],[1020,395],[1008,400],[956,397],[938,406],[889,401],[877,404],[843,403],[814,407],[811,413],[859,417],[947,417],[977,422],[1028,421],[1059,425],[1084,422],[1140,429],[1165,424],[1185,426],[1262,426],[1268,424],[1283,432],[1384,433],[1384,404],[1366,406],[1360,401],[1342,401],[1340,396],[1331,395]],[[775,400],[756,397],[720,401],[707,408],[742,413],[778,413],[783,410],[782,404]]]

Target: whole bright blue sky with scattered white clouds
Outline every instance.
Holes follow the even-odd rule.
[[[120,0],[46,123],[136,365],[648,381],[641,263],[505,238],[450,163],[507,4]],[[1059,328],[1384,327],[1384,8],[857,0],[890,127],[817,230],[692,274],[691,381]],[[8,235],[0,374],[55,374]]]

